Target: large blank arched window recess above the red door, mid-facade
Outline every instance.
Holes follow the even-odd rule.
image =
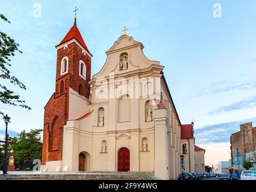
[[[118,98],[118,122],[130,121],[130,99],[129,95]]]

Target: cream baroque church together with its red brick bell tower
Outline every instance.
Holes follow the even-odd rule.
[[[91,77],[93,54],[76,18],[56,49],[55,92],[44,107],[41,172],[153,172],[177,179],[181,122],[164,66],[148,59],[143,44],[124,30]]]

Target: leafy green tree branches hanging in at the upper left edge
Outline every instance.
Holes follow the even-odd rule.
[[[4,20],[5,22],[10,23],[10,21],[3,15],[0,14],[0,19]],[[14,76],[11,76],[10,70],[8,67],[11,67],[11,56],[15,55],[15,52],[22,53],[19,49],[19,44],[16,43],[11,37],[9,37],[4,32],[0,31],[0,79],[5,80],[5,82],[9,82],[13,85],[19,86],[21,89],[26,89],[26,86],[19,81]],[[9,104],[13,106],[20,106],[26,109],[31,109],[29,106],[25,104],[25,101],[20,100],[20,95],[14,93],[7,88],[6,84],[0,83],[0,102],[3,104]],[[0,111],[1,114],[3,114]]]

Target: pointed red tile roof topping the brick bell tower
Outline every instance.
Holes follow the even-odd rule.
[[[76,22],[74,23],[74,25],[72,26],[72,28],[69,30],[69,32],[67,33],[67,35],[63,38],[63,40],[61,41],[61,43],[58,44],[58,46],[60,44],[66,43],[69,40],[72,40],[73,38],[75,38],[83,47],[84,49],[86,49],[89,52],[89,49],[87,48],[84,39],[82,38],[82,35],[78,29],[78,27],[76,26]],[[90,53],[90,52],[89,52]]]

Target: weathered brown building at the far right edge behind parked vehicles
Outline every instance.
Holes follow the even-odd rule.
[[[233,169],[243,169],[242,164],[245,160],[254,162],[251,169],[256,169],[256,127],[252,127],[252,122],[240,125],[240,131],[231,134],[230,144]],[[238,158],[237,148],[240,155]]]

